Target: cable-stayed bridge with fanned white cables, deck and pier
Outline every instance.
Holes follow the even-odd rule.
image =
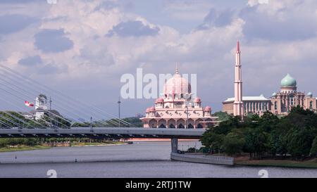
[[[25,107],[21,103],[33,107],[29,101],[39,93],[54,98],[54,110],[51,105],[40,108],[40,117],[23,112]],[[137,128],[4,65],[0,65],[0,102],[19,110],[0,112],[0,138],[168,138],[172,139],[172,151],[176,152],[178,139],[199,139],[205,132],[205,129]],[[37,103],[35,107],[38,107]],[[58,111],[66,113],[67,117]],[[90,122],[83,117],[90,117]]]

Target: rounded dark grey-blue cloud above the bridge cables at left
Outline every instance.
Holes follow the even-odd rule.
[[[73,41],[61,30],[42,30],[35,34],[35,46],[46,53],[58,53],[73,48]]]

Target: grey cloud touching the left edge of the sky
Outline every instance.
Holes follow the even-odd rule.
[[[26,15],[1,15],[0,34],[11,34],[25,29],[25,27],[35,23],[37,19]]]

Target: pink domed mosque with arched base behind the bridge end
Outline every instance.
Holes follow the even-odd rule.
[[[147,108],[140,118],[146,128],[199,129],[218,123],[211,115],[211,107],[201,105],[201,98],[192,98],[192,87],[178,71],[168,79],[161,98]]]

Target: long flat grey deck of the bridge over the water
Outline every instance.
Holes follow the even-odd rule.
[[[69,129],[0,129],[0,138],[15,137],[117,137],[199,139],[206,129],[159,129],[132,127],[71,127]]]

